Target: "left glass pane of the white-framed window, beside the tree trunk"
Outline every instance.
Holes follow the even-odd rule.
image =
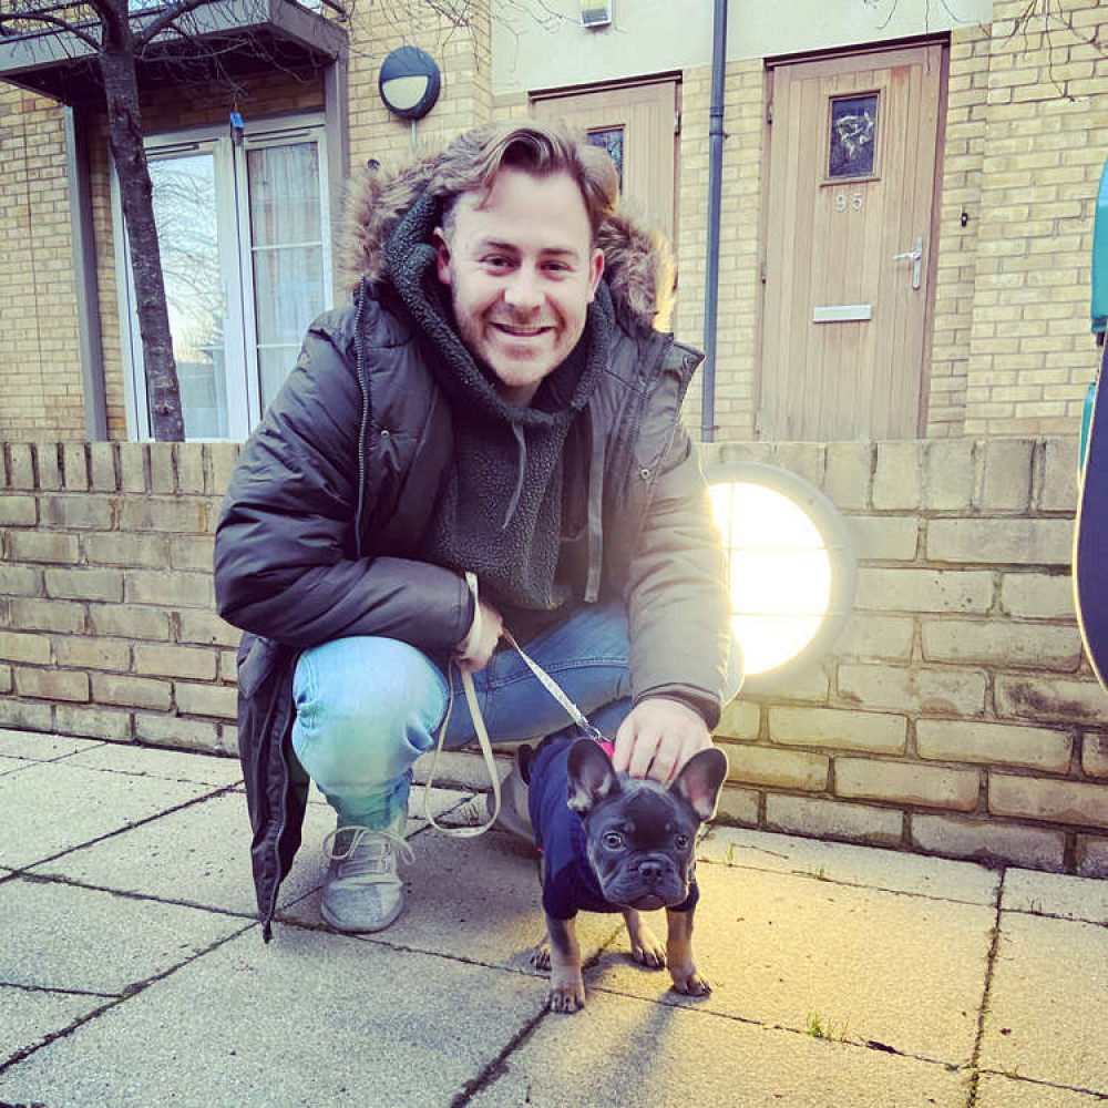
[[[223,283],[211,154],[150,163],[170,331],[188,439],[225,439]]]

